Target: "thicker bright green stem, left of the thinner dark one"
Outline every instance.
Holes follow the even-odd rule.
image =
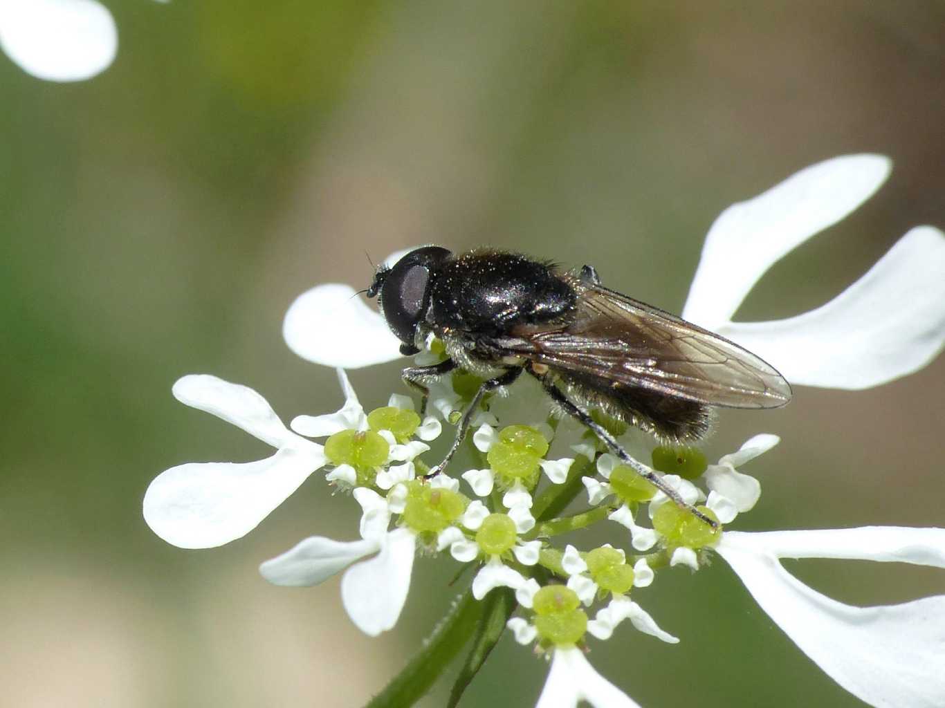
[[[471,590],[457,597],[420,652],[366,708],[407,708],[420,700],[466,646],[482,615],[483,603]]]

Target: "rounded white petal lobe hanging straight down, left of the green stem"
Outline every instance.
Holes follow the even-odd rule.
[[[417,538],[395,529],[381,539],[381,552],[352,565],[341,578],[341,599],[361,632],[377,636],[397,624],[410,589]]]

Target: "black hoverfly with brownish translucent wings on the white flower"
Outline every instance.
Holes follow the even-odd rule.
[[[706,523],[645,464],[631,457],[592,417],[600,409],[685,444],[709,430],[710,407],[778,408],[791,387],[773,366],[741,346],[651,305],[604,287],[593,266],[561,272],[549,261],[476,249],[455,255],[428,245],[381,266],[367,290],[387,326],[416,354],[432,333],[447,359],[404,369],[424,382],[459,367],[485,379],[463,414],[441,471],[462,442],[472,413],[490,390],[527,372],[566,413],[593,430],[622,462]]]

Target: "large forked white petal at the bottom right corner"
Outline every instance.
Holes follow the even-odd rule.
[[[716,550],[782,630],[836,683],[874,706],[945,705],[945,596],[853,607],[790,575],[779,558],[945,568],[945,530],[726,531]]]

